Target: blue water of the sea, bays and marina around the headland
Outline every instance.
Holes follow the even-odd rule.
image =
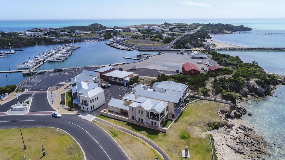
[[[262,18],[262,19],[121,19],[121,20],[0,20],[0,31],[19,31],[38,27],[65,27],[65,26],[86,26],[92,23],[100,23],[108,27],[129,26],[136,24],[163,24],[167,23],[224,23],[233,25],[244,25],[252,28],[248,32],[266,32],[266,33],[285,33],[285,18]],[[219,34],[211,35],[212,40],[222,41],[230,44],[236,44],[246,47],[285,47],[285,36],[282,35],[254,35],[254,34]],[[123,56],[136,55],[139,51],[118,51],[102,44],[103,42],[84,43],[68,59],[63,62],[47,62],[38,69],[54,69],[59,65],[60,68],[103,65],[104,63],[131,62],[123,59]],[[52,48],[52,46],[33,46],[25,47],[23,52],[11,55],[10,60],[0,59],[0,70],[9,68],[15,69],[16,64],[27,61],[33,57]],[[244,62],[257,61],[266,72],[275,74],[285,74],[285,52],[284,51],[218,51],[233,56],[239,56]],[[18,84],[25,77],[22,73],[0,74],[0,86],[9,84]],[[7,80],[8,79],[8,80]],[[277,97],[275,96],[277,95]],[[264,136],[264,139],[272,146],[285,146],[285,86],[277,86],[274,96],[264,99],[253,99],[245,103],[245,107],[253,116],[243,116],[249,124],[254,126],[257,134]],[[270,159],[284,159],[284,149],[274,147],[273,156]]]

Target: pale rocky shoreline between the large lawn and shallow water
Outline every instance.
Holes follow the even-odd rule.
[[[214,137],[218,159],[266,159],[271,155],[267,150],[270,145],[264,138],[240,119],[246,113],[244,107],[237,105],[227,111],[218,111],[225,122],[221,122],[219,129],[209,132]]]

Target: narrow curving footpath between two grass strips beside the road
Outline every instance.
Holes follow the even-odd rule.
[[[156,151],[158,151],[160,153],[160,155],[162,155],[162,157],[165,159],[165,160],[171,160],[169,155],[162,149],[160,148],[159,146],[157,146],[157,144],[155,144],[154,142],[152,142],[150,139],[146,138],[145,136],[141,135],[141,134],[138,134],[136,132],[133,132],[131,130],[128,130],[124,127],[121,127],[121,126],[118,126],[116,124],[113,124],[113,123],[110,123],[110,122],[107,122],[105,120],[102,120],[102,119],[99,119],[99,118],[95,118],[94,120],[97,120],[98,122],[101,122],[103,124],[106,124],[108,126],[111,126],[111,127],[114,127],[118,130],[121,130],[123,132],[126,132],[128,134],[131,134],[137,138],[140,138],[141,140],[143,140],[144,142],[146,142],[147,144],[149,144],[151,147],[153,147],[154,149],[156,149]]]

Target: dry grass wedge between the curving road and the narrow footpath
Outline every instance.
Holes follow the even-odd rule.
[[[100,122],[96,123],[104,130],[106,130],[123,148],[130,159],[155,159],[157,158],[157,152],[143,140],[136,138],[123,131],[107,126]],[[131,145],[130,145],[131,144]],[[162,160],[161,155],[158,155],[159,159]]]

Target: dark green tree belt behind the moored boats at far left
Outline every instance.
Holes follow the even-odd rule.
[[[0,37],[0,48],[10,48],[9,42],[12,47],[28,47],[34,45],[52,45],[52,44],[64,44],[64,43],[72,43],[70,40],[60,40],[53,41],[50,38],[42,37],[17,37],[17,36],[8,36],[5,33],[1,33]],[[74,42],[78,42],[78,40],[74,40]]]

